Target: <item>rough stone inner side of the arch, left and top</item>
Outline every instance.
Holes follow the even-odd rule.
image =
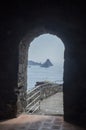
[[[28,61],[28,49],[31,41],[42,34],[57,34],[53,31],[45,28],[37,28],[29,32],[19,44],[19,72],[18,72],[18,114],[25,111],[26,107],[26,91],[27,91],[27,61]]]

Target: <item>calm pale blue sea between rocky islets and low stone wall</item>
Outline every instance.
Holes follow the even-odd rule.
[[[63,83],[63,64],[57,64],[49,68],[28,66],[27,88],[32,89],[39,81]]]

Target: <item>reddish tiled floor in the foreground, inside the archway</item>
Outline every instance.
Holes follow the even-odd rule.
[[[21,115],[0,123],[0,130],[85,130],[63,120],[63,116]]]

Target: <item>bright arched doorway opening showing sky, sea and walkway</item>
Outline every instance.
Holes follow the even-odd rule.
[[[35,114],[63,115],[64,113],[64,49],[62,40],[56,35],[48,33],[36,37],[30,43],[28,50],[27,89],[28,91],[33,91],[32,94],[34,95],[37,93],[36,87],[38,89],[39,86],[41,94],[37,93],[34,98],[32,96],[32,100],[36,102],[36,98],[39,95],[42,98],[40,110],[34,111]],[[28,99],[31,100],[29,96]],[[32,107],[33,112],[36,106],[32,106],[28,106],[27,111]]]

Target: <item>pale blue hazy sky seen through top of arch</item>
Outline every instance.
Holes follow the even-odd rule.
[[[50,59],[52,63],[61,63],[64,60],[64,44],[55,35],[43,34],[31,42],[28,53],[29,60],[43,63]]]

